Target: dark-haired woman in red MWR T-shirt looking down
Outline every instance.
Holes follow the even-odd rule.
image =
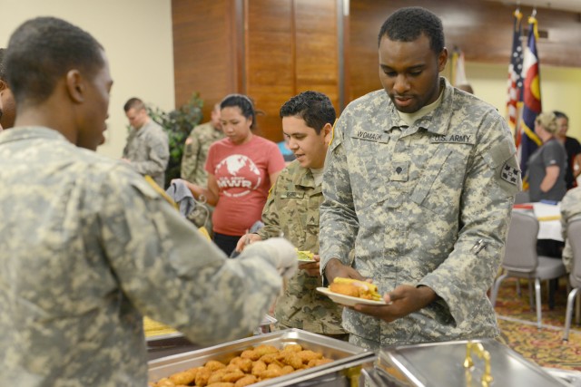
[[[240,237],[261,220],[269,189],[285,164],[276,143],[252,133],[256,115],[250,98],[230,94],[220,110],[226,138],[208,151],[208,187],[186,184],[194,198],[203,195],[215,206],[214,242],[230,256]]]

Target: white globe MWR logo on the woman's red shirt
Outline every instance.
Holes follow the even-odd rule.
[[[224,195],[239,198],[261,185],[261,171],[248,156],[231,155],[214,169],[216,182]]]

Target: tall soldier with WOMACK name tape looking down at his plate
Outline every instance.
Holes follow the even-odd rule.
[[[352,343],[377,349],[499,334],[487,289],[520,171],[497,110],[439,78],[447,60],[438,17],[400,9],[379,33],[385,90],[351,102],[334,131],[320,267],[328,281],[371,278],[389,304],[344,310]]]

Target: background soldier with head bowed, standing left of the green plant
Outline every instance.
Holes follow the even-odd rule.
[[[170,160],[167,133],[147,114],[139,98],[131,98],[123,105],[131,124],[123,160],[128,161],[140,175],[149,175],[165,188],[165,169]]]

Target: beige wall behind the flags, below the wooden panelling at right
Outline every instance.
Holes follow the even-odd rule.
[[[474,93],[506,116],[508,64],[466,63],[466,75]],[[567,134],[581,140],[581,69],[540,63],[541,102],[544,111],[569,116]]]

